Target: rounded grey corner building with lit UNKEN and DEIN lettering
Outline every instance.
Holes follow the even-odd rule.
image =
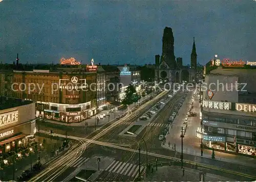
[[[256,70],[239,64],[223,62],[205,75],[200,133],[206,147],[256,155]]]

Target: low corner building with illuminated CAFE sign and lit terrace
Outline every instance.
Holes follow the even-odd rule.
[[[0,98],[0,156],[5,164],[10,164],[12,154],[34,150],[35,102],[10,97]],[[2,162],[1,162],[2,163]]]

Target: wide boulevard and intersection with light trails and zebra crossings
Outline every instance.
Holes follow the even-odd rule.
[[[68,138],[76,141],[76,144],[30,181],[67,181],[71,180],[82,168],[93,169],[95,165],[97,168],[98,164],[100,165],[100,172],[98,171],[98,174],[95,175],[94,181],[134,181],[139,175],[138,148],[141,149],[141,174],[146,173],[146,161],[148,164],[155,164],[156,157],[159,164],[171,162],[172,165],[180,165],[180,153],[161,147],[162,142],[158,140],[158,136],[164,126],[167,125],[166,121],[172,114],[174,107],[186,95],[185,92],[177,92],[168,103],[165,103],[151,121],[151,123],[157,123],[156,126],[146,126],[137,137],[120,135],[125,128],[136,122],[138,117],[169,94],[164,90],[136,110],[130,111],[122,119],[107,123],[92,132],[89,129],[90,133],[83,133],[82,130],[70,132]],[[40,132],[47,133],[47,130]],[[57,134],[59,137],[66,137],[63,133]],[[183,156],[184,165],[195,166],[197,164],[198,167],[207,170],[207,172],[222,174],[226,177],[232,175],[234,179],[248,181],[256,176],[256,168],[253,167],[195,157],[190,154]],[[101,159],[100,162],[95,160],[97,158]],[[92,163],[88,163],[90,160]]]

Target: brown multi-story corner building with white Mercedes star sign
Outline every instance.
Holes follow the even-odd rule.
[[[0,80],[5,96],[37,101],[37,117],[79,122],[96,114],[95,69],[58,66],[54,71],[4,71]]]

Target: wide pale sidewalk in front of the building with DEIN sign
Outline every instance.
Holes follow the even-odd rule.
[[[162,147],[174,150],[172,148],[173,144],[176,144],[176,151],[181,152],[181,138],[180,138],[180,132],[181,132],[181,126],[183,124],[183,121],[186,116],[186,112],[189,107],[190,98],[193,94],[188,94],[187,98],[185,99],[184,103],[182,104],[180,110],[179,110],[179,116],[177,116],[174,120],[173,129],[170,129],[170,134],[166,136],[166,144],[170,142],[170,147],[168,145],[162,145]],[[187,121],[187,129],[185,133],[185,137],[183,138],[183,153],[196,155],[201,157],[201,139],[196,137],[196,131],[198,127],[200,126],[200,119],[199,119],[199,100],[194,100],[193,108],[191,109],[192,112],[197,112],[197,117],[188,117]],[[211,158],[212,150],[209,149],[203,149],[203,157],[205,158]],[[251,157],[241,156],[241,155],[234,155],[224,152],[218,152],[215,151],[215,160],[224,161],[224,162],[232,162],[236,164],[242,164],[242,165],[249,165],[249,166],[255,166],[256,160]]]

